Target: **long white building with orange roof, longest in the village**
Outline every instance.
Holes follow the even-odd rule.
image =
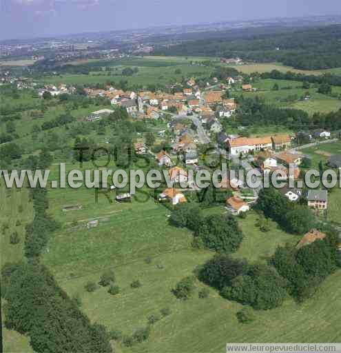
[[[238,137],[227,141],[227,148],[231,154],[249,153],[252,151],[271,150],[271,137]]]

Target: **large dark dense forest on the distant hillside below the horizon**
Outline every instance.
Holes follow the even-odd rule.
[[[341,66],[341,26],[271,29],[254,32],[220,32],[211,38],[188,41],[169,48],[156,48],[156,55],[240,57],[245,61],[279,61],[302,70],[338,68]]]

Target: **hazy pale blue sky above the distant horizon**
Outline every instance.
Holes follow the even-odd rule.
[[[0,40],[341,14],[340,0],[0,0]]]

